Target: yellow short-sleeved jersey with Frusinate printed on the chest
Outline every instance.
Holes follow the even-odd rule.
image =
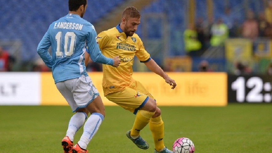
[[[134,82],[132,65],[135,55],[141,62],[148,62],[151,59],[140,37],[135,33],[127,37],[120,25],[99,33],[97,42],[102,54],[109,58],[119,56],[121,60],[117,68],[103,64],[104,96],[121,91]]]

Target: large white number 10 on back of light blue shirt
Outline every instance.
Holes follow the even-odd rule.
[[[65,57],[71,57],[74,54],[75,50],[75,41],[76,41],[76,35],[74,32],[67,32],[64,36],[64,46],[61,46],[61,39],[62,39],[62,32],[59,31],[55,39],[57,41],[57,50],[56,50],[56,57],[62,58],[63,52],[62,48],[64,49]]]

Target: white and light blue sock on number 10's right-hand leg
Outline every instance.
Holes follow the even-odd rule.
[[[83,127],[83,134],[78,142],[81,148],[87,148],[87,145],[99,129],[103,119],[104,116],[100,113],[92,113],[91,116],[87,119]]]

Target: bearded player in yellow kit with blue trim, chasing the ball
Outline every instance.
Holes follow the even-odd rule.
[[[128,7],[122,14],[120,25],[103,31],[97,36],[99,48],[107,57],[119,56],[119,67],[103,64],[103,90],[110,101],[136,114],[132,129],[127,137],[137,147],[148,149],[148,143],[140,137],[140,131],[149,124],[155,142],[154,153],[173,153],[163,143],[164,125],[161,111],[156,106],[154,97],[144,86],[132,78],[132,64],[136,55],[151,71],[160,75],[165,82],[176,87],[176,83],[156,64],[144,49],[143,42],[135,31],[140,24],[140,12],[135,7]],[[86,58],[88,59],[88,58]]]

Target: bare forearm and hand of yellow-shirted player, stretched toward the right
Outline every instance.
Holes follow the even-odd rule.
[[[177,86],[175,80],[171,79],[153,59],[145,62],[144,64],[148,67],[149,70],[160,75],[166,83],[170,84],[172,86],[171,89],[174,89]]]

